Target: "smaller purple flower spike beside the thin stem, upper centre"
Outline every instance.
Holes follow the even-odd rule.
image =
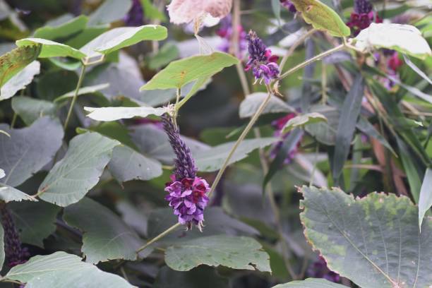
[[[269,84],[272,79],[279,77],[279,66],[276,63],[279,57],[272,55],[271,50],[257,37],[256,32],[249,32],[247,39],[249,59],[245,70],[252,68],[256,82],[264,80],[265,84]]]

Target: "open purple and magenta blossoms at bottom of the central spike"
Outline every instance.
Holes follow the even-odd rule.
[[[172,175],[172,182],[167,183],[165,191],[169,193],[165,200],[174,209],[174,215],[179,217],[179,223],[186,224],[188,229],[195,224],[202,231],[203,213],[208,204],[206,193],[210,191],[207,181],[198,176],[176,181],[176,176]]]

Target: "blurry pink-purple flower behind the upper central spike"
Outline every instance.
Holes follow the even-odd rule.
[[[247,41],[246,41],[246,32],[243,29],[243,26],[239,25],[237,28],[239,31],[239,52],[236,55],[237,58],[242,59],[244,56],[244,52],[247,49]],[[217,49],[222,52],[229,53],[229,48],[231,47],[232,35],[234,31],[232,29],[232,17],[228,15],[227,17],[220,20],[220,28],[216,31],[216,34],[222,38],[222,44],[220,44]]]

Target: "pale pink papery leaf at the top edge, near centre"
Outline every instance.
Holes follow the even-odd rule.
[[[224,18],[231,11],[232,0],[172,0],[167,10],[174,24],[191,23],[210,14]]]

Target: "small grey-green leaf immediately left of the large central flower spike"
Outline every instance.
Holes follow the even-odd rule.
[[[120,183],[131,180],[150,180],[162,175],[162,164],[127,146],[114,148],[108,163],[109,172]]]

